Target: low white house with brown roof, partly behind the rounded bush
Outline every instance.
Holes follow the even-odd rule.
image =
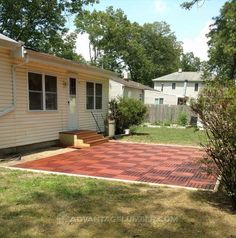
[[[157,101],[159,98],[164,98],[167,104],[174,104],[177,102],[177,97],[175,95],[163,94],[158,90],[130,79],[113,77],[110,79],[109,83],[109,100],[118,97],[142,100],[144,104],[159,104],[159,101]]]

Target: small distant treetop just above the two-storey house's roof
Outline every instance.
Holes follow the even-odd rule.
[[[181,55],[180,67],[183,71],[200,71],[201,60],[195,57],[193,52],[189,52]]]

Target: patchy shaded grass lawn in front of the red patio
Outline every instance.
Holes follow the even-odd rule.
[[[236,237],[221,194],[0,168],[0,237]]]

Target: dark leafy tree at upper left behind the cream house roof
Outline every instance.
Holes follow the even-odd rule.
[[[83,12],[95,0],[0,0],[0,33],[29,48],[68,59],[75,54],[75,34],[65,27],[66,17]]]

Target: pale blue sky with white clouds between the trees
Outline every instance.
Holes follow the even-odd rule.
[[[220,13],[226,0],[202,0],[191,10],[185,10],[180,4],[186,0],[100,0],[89,6],[90,10],[105,10],[108,6],[121,8],[132,22],[139,24],[165,21],[170,25],[177,40],[183,43],[184,52],[193,52],[201,60],[207,60],[207,38],[209,25]],[[89,60],[88,35],[78,35],[77,53]]]

